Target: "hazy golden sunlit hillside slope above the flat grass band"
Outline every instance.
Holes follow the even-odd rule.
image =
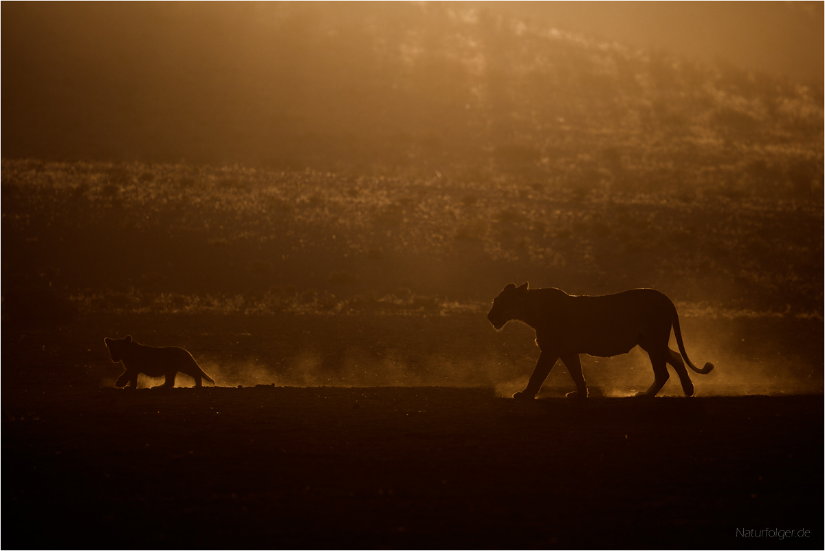
[[[4,158],[441,175],[581,196],[823,196],[822,87],[492,6],[3,10],[16,21],[2,36]]]

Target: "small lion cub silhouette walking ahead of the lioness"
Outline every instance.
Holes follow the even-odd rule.
[[[104,339],[106,348],[109,349],[111,360],[122,362],[125,372],[117,378],[116,387],[125,386],[130,383],[129,389],[138,388],[138,374],[146,374],[149,377],[166,376],[164,389],[171,389],[175,386],[175,377],[178,371],[189,375],[195,379],[195,386],[203,386],[200,379],[206,379],[214,384],[214,379],[204,373],[192,355],[177,346],[145,346],[132,340],[131,335],[126,335],[122,339]]]

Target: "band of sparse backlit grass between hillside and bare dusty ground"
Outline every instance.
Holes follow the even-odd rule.
[[[195,183],[180,186],[185,178]],[[355,185],[330,172],[5,161],[3,246],[21,261],[4,267],[4,285],[35,274],[86,308],[172,311],[172,294],[189,309],[349,313],[361,295],[385,311],[398,309],[386,296],[427,295],[432,311],[484,304],[522,278],[573,293],[654,286],[718,308],[822,315],[821,203],[709,190],[577,197],[507,178]],[[326,298],[273,302],[272,285]]]

